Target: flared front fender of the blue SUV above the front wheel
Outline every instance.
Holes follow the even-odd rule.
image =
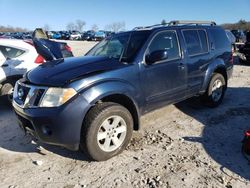
[[[83,84],[84,82],[85,84]],[[139,90],[130,82],[123,79],[103,79],[97,82],[82,80],[78,81],[78,84],[75,82],[73,85],[75,88],[78,86],[78,93],[80,93],[89,104],[88,110],[102,99],[107,99],[107,97],[111,95],[120,95],[121,97],[123,96],[129,99],[130,102],[128,101],[128,103],[126,100],[121,100],[120,102],[124,103],[123,105],[131,110],[130,112],[135,121],[134,129],[139,130],[141,106],[143,105],[144,97],[141,96],[140,92],[138,92]],[[110,99],[112,99],[112,97]],[[132,109],[130,107],[132,107]]]

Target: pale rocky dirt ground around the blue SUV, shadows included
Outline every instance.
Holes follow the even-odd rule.
[[[93,46],[70,42],[75,55]],[[250,66],[236,64],[216,109],[185,101],[142,117],[128,148],[105,162],[32,141],[0,100],[0,187],[250,187],[241,154],[250,128]]]

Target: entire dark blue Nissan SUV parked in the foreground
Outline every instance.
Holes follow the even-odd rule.
[[[215,22],[172,21],[38,66],[16,83],[13,107],[25,132],[102,161],[126,148],[151,110],[193,96],[220,105],[232,71],[225,30]]]

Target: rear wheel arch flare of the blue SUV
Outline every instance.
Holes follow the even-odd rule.
[[[208,84],[212,78],[212,75],[215,72],[215,70],[218,68],[223,68],[225,69],[225,72],[226,72],[225,62],[221,58],[215,59],[214,61],[212,61],[212,63],[208,65],[207,71],[204,76],[204,81],[200,90],[200,94],[203,94],[206,92]]]

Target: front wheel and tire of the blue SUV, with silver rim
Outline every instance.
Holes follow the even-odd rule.
[[[85,117],[80,149],[92,160],[105,161],[126,148],[132,132],[133,118],[125,107],[112,102],[100,103]]]

